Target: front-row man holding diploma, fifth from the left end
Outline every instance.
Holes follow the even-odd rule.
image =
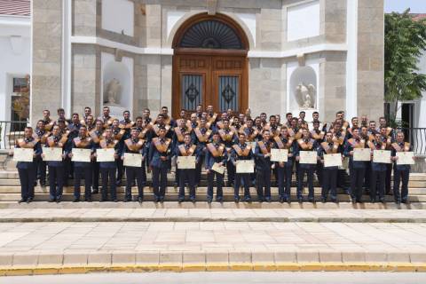
[[[138,137],[139,131],[136,127],[130,130],[130,138],[124,140],[124,148],[122,151],[122,161],[124,161],[124,153],[141,154],[142,162],[146,159],[145,140]],[[124,202],[132,201],[131,186],[136,178],[138,183],[138,202],[144,201],[144,186],[146,185],[145,168],[142,163],[139,167],[126,166],[126,193]],[[144,178],[145,177],[145,178]]]

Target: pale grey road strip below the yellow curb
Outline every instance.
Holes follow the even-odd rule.
[[[4,284],[417,284],[426,273],[409,272],[186,272],[186,273],[93,273],[0,278]]]

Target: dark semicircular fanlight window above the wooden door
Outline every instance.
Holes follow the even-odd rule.
[[[219,20],[203,20],[185,31],[179,47],[209,49],[243,49],[237,33]]]

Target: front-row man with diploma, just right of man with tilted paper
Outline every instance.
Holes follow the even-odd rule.
[[[237,161],[253,160],[253,151],[251,150],[251,147],[246,144],[246,135],[244,133],[240,133],[238,135],[238,143],[233,145],[233,151],[231,151],[231,159],[234,166],[236,166]],[[233,185],[233,200],[235,202],[240,201],[241,179],[244,186],[244,201],[251,202],[249,173],[235,172],[235,181]]]

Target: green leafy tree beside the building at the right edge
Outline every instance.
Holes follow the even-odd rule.
[[[384,17],[384,99],[394,103],[393,120],[398,101],[422,98],[426,91],[426,75],[417,67],[426,49],[426,20],[413,20],[409,12]]]

